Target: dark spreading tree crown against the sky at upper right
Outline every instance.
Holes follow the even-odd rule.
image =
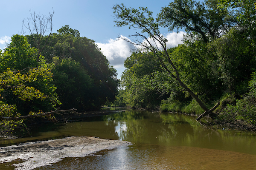
[[[163,7],[158,14],[160,26],[169,31],[184,28],[187,34],[193,33],[204,42],[215,40],[225,34],[235,20],[226,8],[218,8],[217,0],[206,0],[205,3],[193,0],[175,0]]]

